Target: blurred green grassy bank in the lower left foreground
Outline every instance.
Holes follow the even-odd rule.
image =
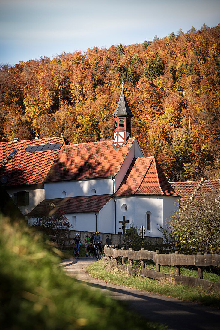
[[[57,267],[64,255],[22,224],[0,218],[0,323],[5,330],[166,329],[89,290]]]

